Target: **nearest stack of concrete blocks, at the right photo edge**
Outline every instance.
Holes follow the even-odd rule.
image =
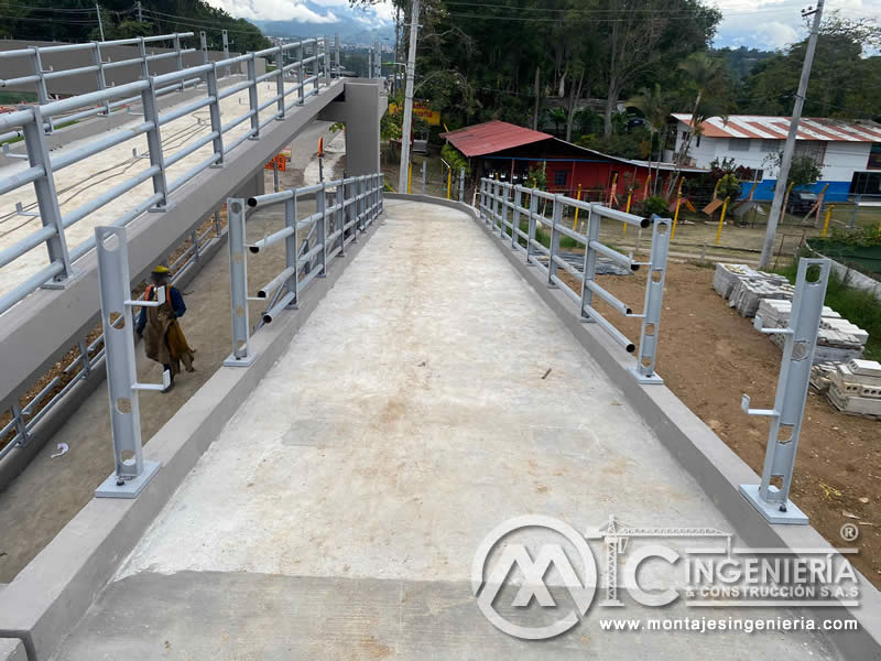
[[[881,418],[881,364],[851,359],[814,367],[812,384],[844,413]]]

